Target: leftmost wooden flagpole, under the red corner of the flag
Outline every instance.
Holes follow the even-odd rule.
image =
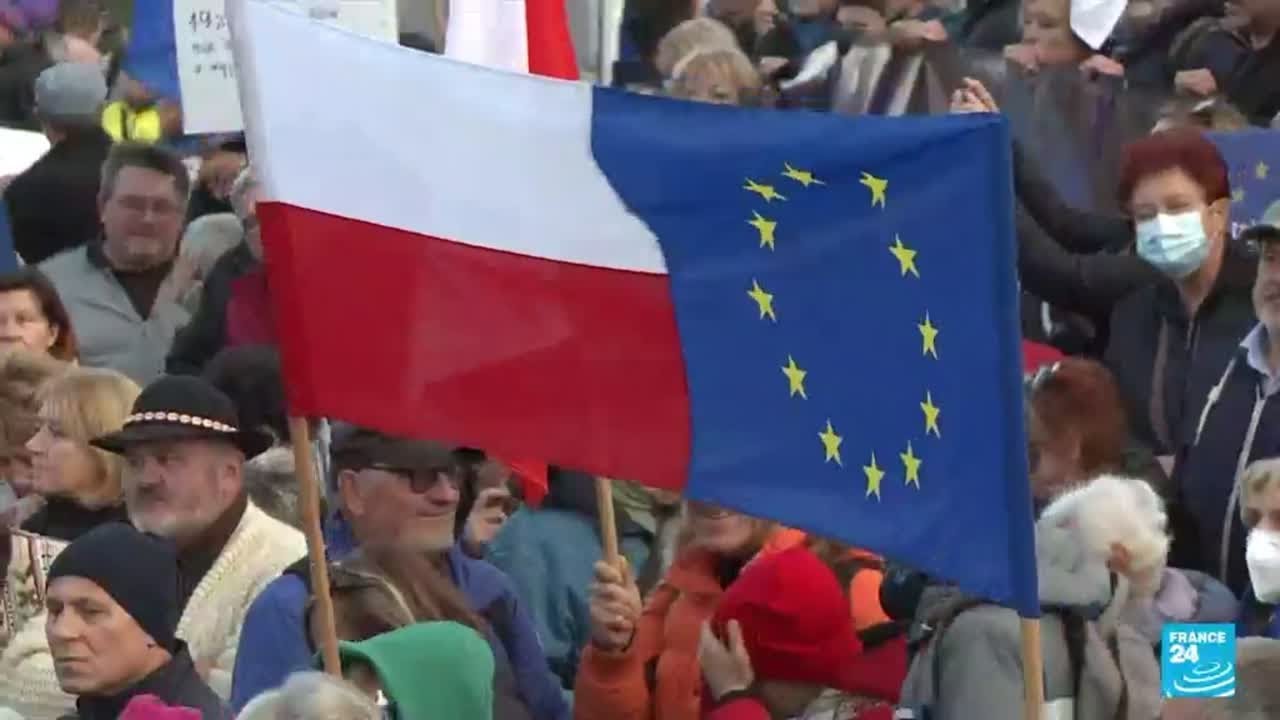
[[[329,562],[324,552],[324,533],[320,530],[320,478],[316,477],[315,456],[311,454],[311,425],[306,418],[289,418],[289,441],[293,443],[293,468],[298,477],[302,527],[307,537],[307,557],[311,560],[311,594],[315,597],[312,612],[320,614],[321,637],[317,639],[324,657],[324,671],[340,678],[338,632],[333,623],[333,596],[329,594]]]

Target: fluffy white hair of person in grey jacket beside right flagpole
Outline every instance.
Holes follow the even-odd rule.
[[[1112,546],[1129,555],[1126,577],[1135,597],[1152,597],[1169,557],[1165,503],[1144,480],[1098,475],[1055,500],[1042,520],[1069,520],[1084,551],[1108,559]]]

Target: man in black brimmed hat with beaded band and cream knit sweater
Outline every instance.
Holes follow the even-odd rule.
[[[237,427],[232,401],[207,382],[165,377],[133,404],[124,427],[93,445],[123,455],[124,500],[138,529],[178,548],[178,635],[202,675],[229,697],[244,614],[306,553],[298,530],[250,502],[243,466],[271,443]]]

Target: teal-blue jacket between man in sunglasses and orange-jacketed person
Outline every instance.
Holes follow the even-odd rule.
[[[521,509],[489,546],[489,561],[511,578],[543,639],[547,662],[573,688],[582,648],[591,639],[588,587],[604,559],[595,510],[595,480],[562,473],[538,510]],[[576,475],[576,474],[572,474]],[[617,510],[621,542],[635,573],[645,566],[653,533]]]

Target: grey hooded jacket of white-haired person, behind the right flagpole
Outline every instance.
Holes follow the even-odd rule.
[[[1074,533],[1043,520],[1036,528],[1039,574],[1041,647],[1044,661],[1046,717],[1124,717],[1160,715],[1160,669],[1151,646],[1117,621],[1128,583],[1112,588],[1106,565],[1087,556]],[[928,628],[948,607],[972,598],[952,587],[925,591],[916,615]],[[1066,639],[1068,615],[1092,618],[1088,625],[1114,639],[1119,665],[1103,643],[1085,643],[1079,676]],[[1088,628],[1087,628],[1088,630]],[[1019,720],[1023,717],[1021,638],[1018,612],[987,603],[972,606],[934,630],[911,661],[901,707],[929,720]],[[1110,671],[1108,671],[1110,670]],[[1128,714],[1117,715],[1121,698]],[[925,710],[927,708],[927,710]],[[911,715],[902,715],[911,717]]]

